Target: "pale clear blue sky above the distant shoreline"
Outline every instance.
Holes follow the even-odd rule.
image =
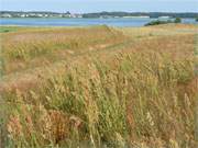
[[[198,0],[0,0],[1,10],[198,12]]]

